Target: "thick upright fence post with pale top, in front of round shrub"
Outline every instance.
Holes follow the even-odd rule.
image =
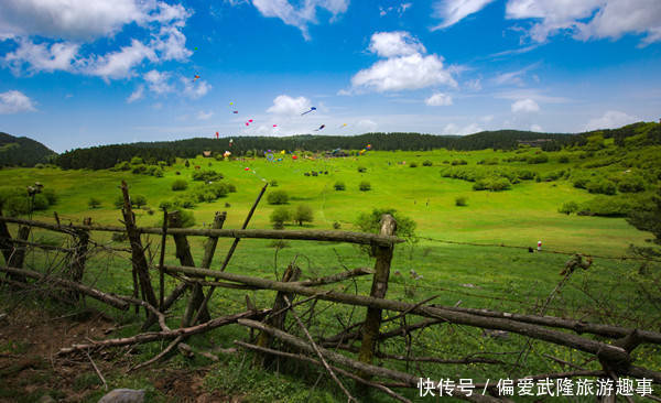
[[[381,216],[380,235],[393,236],[395,230],[397,221],[394,218],[392,218],[392,216],[389,214]],[[390,261],[392,260],[393,249],[393,244],[387,247],[372,247],[372,253],[377,258],[377,262],[375,263],[375,277],[369,295],[375,298],[386,297],[386,292],[388,291],[388,277],[390,276]],[[365,317],[365,323],[362,325],[362,342],[360,344],[360,352],[358,353],[359,361],[371,364],[380,327],[381,309],[368,307],[367,316]],[[361,374],[361,377],[368,378],[367,374]]]

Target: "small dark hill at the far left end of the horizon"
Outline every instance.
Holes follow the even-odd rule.
[[[55,155],[39,141],[0,132],[0,166],[34,166],[48,162]]]

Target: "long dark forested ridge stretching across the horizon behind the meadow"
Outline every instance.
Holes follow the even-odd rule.
[[[433,149],[451,150],[510,150],[519,141],[544,140],[545,150],[560,150],[563,145],[582,143],[585,139],[577,134],[534,133],[518,130],[485,131],[472,135],[433,135],[420,133],[366,133],[360,135],[292,135],[292,137],[235,137],[230,148],[229,138],[186,139],[151,143],[101,145],[77,149],[61,154],[56,163],[63,168],[101,170],[140,156],[145,161],[173,161],[175,157],[194,157],[203,151],[214,154],[230,150],[234,155],[266,150],[304,150],[323,152],[334,149],[361,150],[371,144],[372,150],[381,151],[424,151]]]

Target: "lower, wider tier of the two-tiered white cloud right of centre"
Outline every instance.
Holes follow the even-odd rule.
[[[375,63],[351,78],[354,88],[383,91],[420,89],[436,85],[456,87],[451,73],[443,68],[443,59],[436,55],[392,57]]]

